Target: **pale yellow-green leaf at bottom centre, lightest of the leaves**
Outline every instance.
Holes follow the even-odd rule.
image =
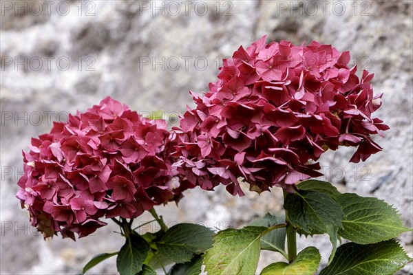
[[[205,271],[208,275],[255,274],[260,259],[260,238],[266,229],[247,226],[215,234],[213,248],[203,256]]]

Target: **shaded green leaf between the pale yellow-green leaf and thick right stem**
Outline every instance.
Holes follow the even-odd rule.
[[[279,223],[284,223],[284,218],[277,218],[270,213],[265,214],[264,217],[254,219],[248,225],[251,226],[265,226],[269,227],[272,225],[277,225]],[[280,252],[284,256],[287,256],[284,245],[286,243],[286,228],[277,228],[268,234],[265,234],[261,238],[261,249],[271,250],[275,252]]]

